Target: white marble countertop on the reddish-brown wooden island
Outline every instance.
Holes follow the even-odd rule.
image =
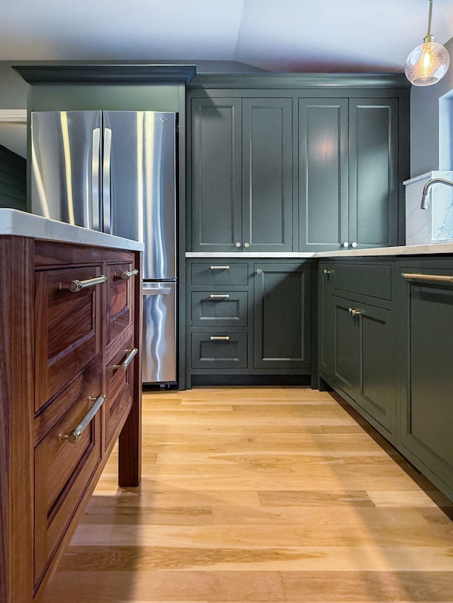
[[[129,251],[144,250],[143,243],[138,241],[99,233],[98,230],[89,230],[89,228],[81,226],[72,226],[18,209],[0,208],[0,236],[2,235],[95,245],[96,247],[113,247]]]

